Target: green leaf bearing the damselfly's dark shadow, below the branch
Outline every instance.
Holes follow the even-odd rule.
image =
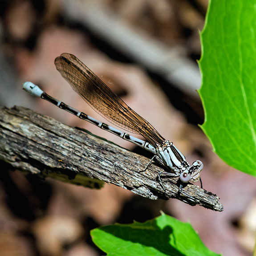
[[[191,224],[164,213],[145,223],[95,228],[91,236],[108,256],[218,256],[203,245]]]

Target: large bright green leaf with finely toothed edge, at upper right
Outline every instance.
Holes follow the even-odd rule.
[[[256,1],[210,1],[201,42],[202,129],[223,161],[256,176]]]

